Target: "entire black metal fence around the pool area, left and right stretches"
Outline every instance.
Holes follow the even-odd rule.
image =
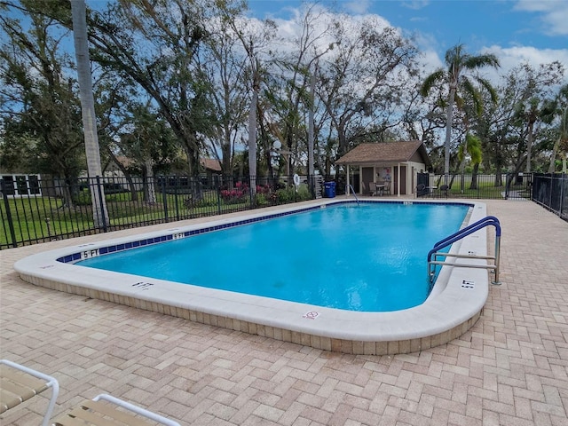
[[[322,177],[126,177],[81,178],[74,182],[35,175],[0,180],[0,249],[92,233],[209,217],[326,195]],[[446,183],[447,182],[447,183]],[[255,185],[255,191],[250,185]],[[359,182],[357,182],[359,183]],[[421,188],[418,185],[423,185]],[[446,187],[444,185],[447,185]],[[358,192],[358,186],[355,190]],[[104,191],[103,189],[104,188]],[[422,189],[419,191],[419,189]],[[336,193],[342,194],[339,179]],[[106,215],[93,221],[92,196],[104,201]],[[418,175],[414,195],[432,198],[526,199],[568,220],[566,175]]]

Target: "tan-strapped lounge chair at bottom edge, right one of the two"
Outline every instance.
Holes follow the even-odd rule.
[[[156,422],[165,426],[180,426],[160,414],[111,395],[101,394],[83,401],[70,413],[59,416],[52,426],[143,426]]]

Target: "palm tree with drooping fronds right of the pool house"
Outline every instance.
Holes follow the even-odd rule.
[[[480,84],[486,91],[491,94],[493,102],[497,100],[497,94],[491,83],[485,78],[478,75],[465,75],[464,71],[475,71],[481,67],[499,67],[499,59],[493,54],[484,54],[471,56],[464,51],[463,44],[458,44],[446,51],[447,69],[438,68],[432,74],[428,75],[422,83],[421,94],[423,97],[428,96],[432,87],[443,82],[448,85],[448,96],[446,100],[446,143],[444,158],[444,174],[450,172],[450,142],[452,139],[452,120],[454,118],[454,103],[461,103],[460,91],[468,92],[473,99],[477,110],[482,108],[482,98],[472,79]],[[471,77],[471,78],[470,78]]]

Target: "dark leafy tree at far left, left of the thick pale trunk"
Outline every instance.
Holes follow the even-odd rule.
[[[56,22],[24,12],[29,28],[0,14],[0,114],[4,121],[4,152],[17,170],[60,178],[67,206],[72,188],[84,170],[84,144],[79,99],[70,58],[59,47]],[[66,33],[64,33],[66,34]],[[19,146],[13,146],[18,144]]]

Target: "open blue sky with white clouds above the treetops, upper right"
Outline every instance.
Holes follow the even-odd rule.
[[[350,15],[379,15],[403,35],[414,37],[432,70],[443,65],[449,48],[463,43],[470,54],[497,55],[501,75],[521,62],[536,66],[558,60],[566,68],[568,83],[568,0],[323,0],[319,4]],[[300,5],[298,0],[248,0],[254,17],[280,23],[292,20]]]

